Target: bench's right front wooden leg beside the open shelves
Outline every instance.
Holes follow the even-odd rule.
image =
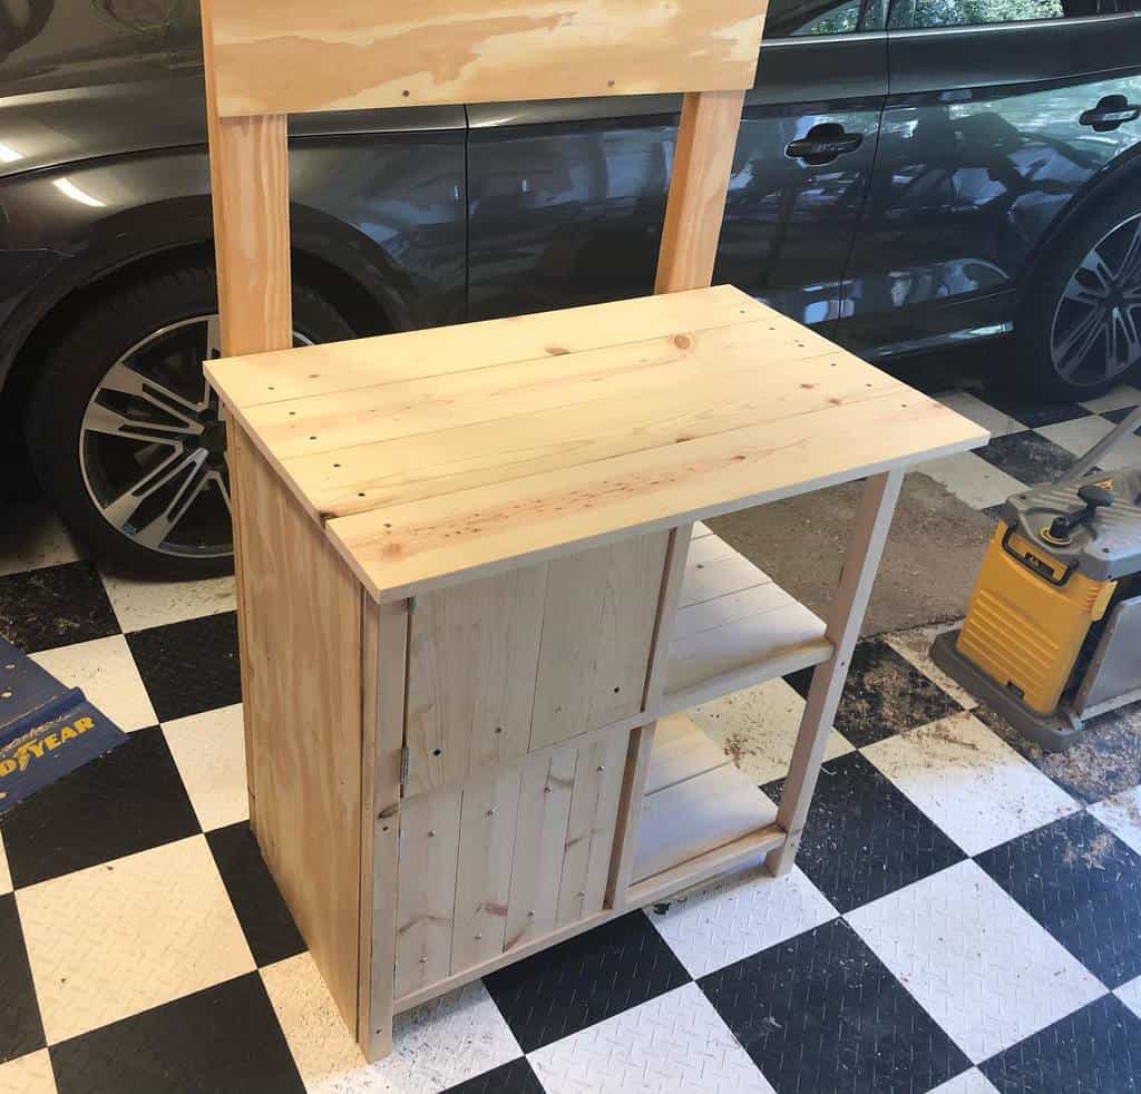
[[[835,647],[831,661],[817,665],[808,690],[788,777],[785,779],[777,824],[788,834],[785,843],[770,851],[766,864],[777,876],[792,869],[812,803],[816,780],[832,734],[832,720],[848,679],[852,650],[864,624],[864,613],[880,568],[883,545],[899,499],[904,471],[888,471],[864,484],[852,529],[848,538],[843,573],[828,616],[827,635]]]

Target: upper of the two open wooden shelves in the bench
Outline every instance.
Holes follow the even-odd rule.
[[[664,714],[832,656],[824,622],[707,529],[690,545],[679,605]]]

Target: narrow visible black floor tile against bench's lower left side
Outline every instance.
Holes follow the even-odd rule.
[[[242,821],[208,832],[207,842],[258,966],[300,954],[305,940],[274,884],[250,826]]]

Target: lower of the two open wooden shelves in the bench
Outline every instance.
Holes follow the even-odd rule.
[[[683,714],[658,722],[638,826],[638,885],[771,829],[777,809]]]

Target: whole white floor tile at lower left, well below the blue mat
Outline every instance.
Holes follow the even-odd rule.
[[[204,836],[16,893],[49,1044],[254,964]]]

